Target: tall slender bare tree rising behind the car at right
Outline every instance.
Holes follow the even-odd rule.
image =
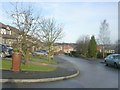
[[[100,31],[99,31],[99,42],[102,44],[102,52],[103,52],[103,58],[105,54],[105,48],[107,45],[110,44],[110,31],[109,31],[109,24],[106,20],[104,20],[101,23]]]

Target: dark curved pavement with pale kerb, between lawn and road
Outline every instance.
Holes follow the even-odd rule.
[[[12,72],[8,70],[2,71],[2,78],[0,82],[50,82],[57,80],[65,80],[73,78],[79,75],[79,70],[72,63],[57,58],[57,65],[52,65],[57,69],[51,72],[41,72],[41,71],[21,71],[21,72]]]

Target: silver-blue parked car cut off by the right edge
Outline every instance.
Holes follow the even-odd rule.
[[[120,54],[110,54],[105,58],[105,64],[120,67]]]

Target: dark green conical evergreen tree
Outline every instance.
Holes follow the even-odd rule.
[[[92,36],[88,46],[88,56],[92,58],[96,58],[96,53],[97,53],[97,44],[95,37]]]

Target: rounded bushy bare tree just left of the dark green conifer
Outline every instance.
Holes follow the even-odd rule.
[[[89,41],[88,35],[83,35],[77,40],[76,51],[79,55],[87,56]]]

